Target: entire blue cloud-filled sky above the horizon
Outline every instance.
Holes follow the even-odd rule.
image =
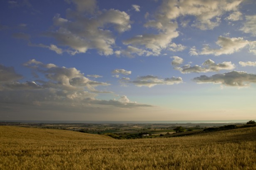
[[[255,9],[0,0],[0,120],[255,120]]]

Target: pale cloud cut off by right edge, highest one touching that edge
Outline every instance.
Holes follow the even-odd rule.
[[[253,36],[256,36],[256,15],[247,15],[245,16],[246,22],[244,26],[240,29],[245,33],[251,33]]]

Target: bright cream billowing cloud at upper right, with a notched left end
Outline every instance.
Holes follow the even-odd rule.
[[[246,47],[249,44],[249,41],[244,40],[242,37],[238,38],[229,38],[219,36],[218,41],[216,42],[219,45],[220,49],[211,49],[208,45],[206,45],[200,54],[214,54],[215,56],[219,56],[222,54],[232,54],[234,52],[238,52],[240,49]]]

